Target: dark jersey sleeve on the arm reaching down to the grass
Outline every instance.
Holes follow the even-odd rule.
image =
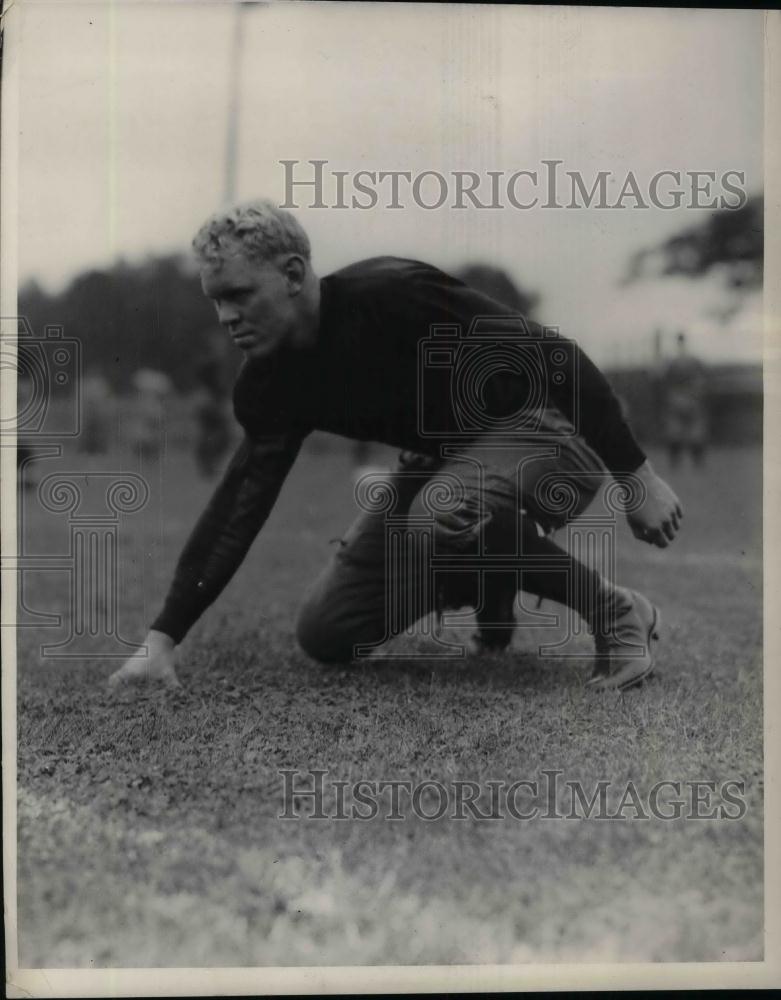
[[[301,448],[297,433],[247,435],[198,520],[152,628],[180,642],[239,568]]]

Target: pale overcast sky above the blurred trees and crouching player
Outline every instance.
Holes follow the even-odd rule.
[[[660,170],[738,170],[749,193],[762,187],[761,11],[19,7],[19,273],[51,290],[119,256],[189,251],[224,196],[237,17],[242,199],[281,203],[283,159],[327,160],[328,171],[350,175],[481,177],[560,159],[589,186],[611,171],[611,191],[628,171],[647,190]],[[427,211],[406,197],[402,210],[362,211],[306,199],[297,216],[318,273],[375,254],[445,269],[487,261],[537,291],[541,318],[598,361],[650,356],[657,327],[670,343],[687,330],[714,360],[761,354],[758,296],[724,324],[716,279],[618,283],[633,251],[703,221],[703,210]]]

